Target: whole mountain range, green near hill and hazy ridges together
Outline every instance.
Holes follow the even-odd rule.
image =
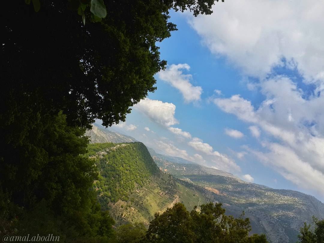
[[[147,223],[155,212],[177,202],[189,210],[209,201],[221,202],[226,214],[237,217],[244,211],[252,233],[265,233],[271,242],[280,243],[296,242],[299,228],[311,222],[312,215],[324,217],[324,204],[313,196],[249,183],[223,170],[161,155],[132,137],[95,125],[87,134],[91,134],[91,143],[121,143],[89,147],[101,168],[102,177],[96,184],[99,201],[118,224]],[[114,188],[106,188],[107,176],[118,178]]]

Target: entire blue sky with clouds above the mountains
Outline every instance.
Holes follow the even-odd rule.
[[[231,0],[171,12],[154,93],[113,129],[179,156],[324,202],[324,3]]]

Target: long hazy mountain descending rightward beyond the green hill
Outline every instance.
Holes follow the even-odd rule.
[[[206,200],[223,203],[227,214],[240,215],[244,211],[251,220],[252,233],[264,233],[273,243],[296,242],[303,222],[311,222],[312,215],[324,218],[324,204],[313,196],[249,183],[203,166],[153,159],[161,170],[184,185],[212,192],[205,193]]]

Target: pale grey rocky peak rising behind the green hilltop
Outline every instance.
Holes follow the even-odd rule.
[[[86,136],[90,137],[90,143],[132,143],[137,142],[133,137],[116,133],[101,127],[97,124],[92,125],[91,130],[86,131]]]

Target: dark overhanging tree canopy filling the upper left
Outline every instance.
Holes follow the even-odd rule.
[[[34,1],[33,1],[34,2]],[[78,6],[88,1],[68,1]],[[92,1],[91,1],[92,2]],[[100,1],[96,1],[100,2]],[[67,1],[41,1],[40,11],[23,1],[7,1],[2,21],[2,121],[12,121],[21,102],[43,112],[63,110],[69,124],[102,119],[124,121],[129,107],[153,92],[154,74],[165,68],[156,43],[176,25],[169,9],[211,14],[214,0],[101,1],[101,22],[85,15],[84,26]],[[18,109],[12,112],[13,105]],[[6,116],[6,117],[5,117]]]

